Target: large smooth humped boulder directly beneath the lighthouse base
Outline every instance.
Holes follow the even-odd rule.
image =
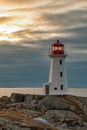
[[[69,103],[64,98],[56,97],[56,96],[47,96],[43,100],[41,100],[39,107],[42,111],[47,110],[70,110],[77,112],[77,107],[71,103]]]

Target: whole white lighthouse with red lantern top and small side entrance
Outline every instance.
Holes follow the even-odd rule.
[[[64,45],[59,40],[52,44],[51,53],[49,55],[51,58],[49,82],[43,86],[44,95],[67,94],[68,87],[65,70],[66,56]]]

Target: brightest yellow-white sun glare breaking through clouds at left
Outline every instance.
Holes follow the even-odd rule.
[[[26,12],[23,12],[24,17],[21,15],[19,16],[18,13],[15,20],[11,20],[0,25],[0,40],[19,41],[19,38],[15,38],[15,36],[10,37],[11,33],[24,30],[27,27],[32,27],[32,29],[34,29],[34,25],[36,23],[35,16],[38,16],[36,15],[37,13],[27,13],[27,17],[25,13]]]

